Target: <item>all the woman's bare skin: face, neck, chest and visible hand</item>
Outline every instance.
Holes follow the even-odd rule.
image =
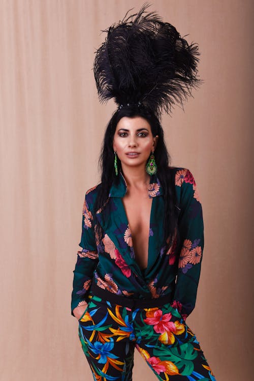
[[[155,150],[158,136],[152,135],[150,124],[141,116],[124,116],[116,126],[113,150],[121,161],[127,192],[122,198],[132,234],[135,259],[141,269],[147,267],[148,238],[152,198],[148,197],[150,177],[145,165]],[[130,153],[136,153],[131,155]],[[79,319],[86,305],[74,308]]]

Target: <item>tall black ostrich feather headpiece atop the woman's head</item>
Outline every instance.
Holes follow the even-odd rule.
[[[144,4],[138,13],[111,25],[96,51],[94,77],[99,100],[114,98],[122,107],[142,104],[160,117],[175,103],[183,106],[197,78],[198,45],[188,44],[176,28]]]

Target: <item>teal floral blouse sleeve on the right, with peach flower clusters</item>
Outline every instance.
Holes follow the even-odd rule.
[[[179,215],[180,254],[178,258],[177,280],[173,307],[183,319],[193,311],[204,249],[204,224],[199,191],[192,173],[188,169],[180,171],[181,211]]]

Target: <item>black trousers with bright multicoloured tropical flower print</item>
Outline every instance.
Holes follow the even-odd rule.
[[[195,334],[170,303],[129,308],[93,295],[79,339],[96,381],[131,381],[135,347],[160,380],[215,381]]]

